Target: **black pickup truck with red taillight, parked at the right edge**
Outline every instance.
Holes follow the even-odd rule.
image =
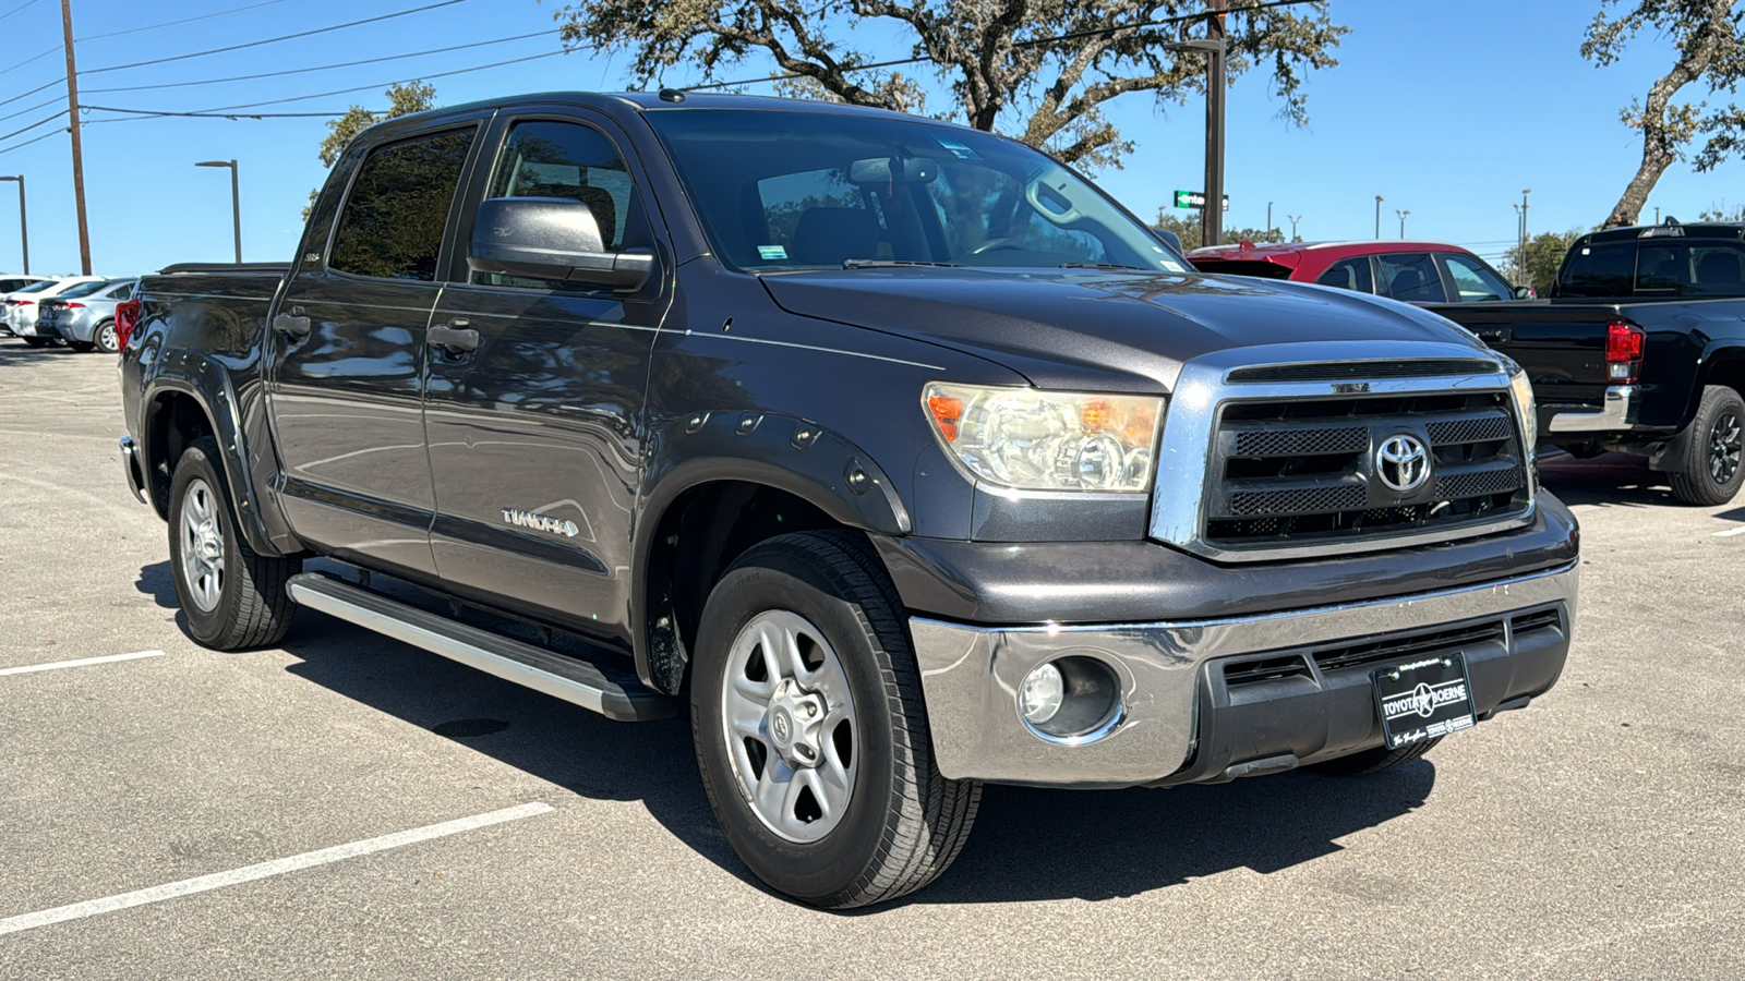
[[[1541,445],[1644,456],[1691,504],[1745,484],[1745,225],[1593,232],[1550,298],[1427,309],[1527,370]]]

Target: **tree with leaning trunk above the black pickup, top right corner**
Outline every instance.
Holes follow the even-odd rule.
[[[1654,183],[1691,143],[1707,136],[1696,154],[1696,169],[1708,171],[1745,147],[1745,110],[1738,105],[1710,108],[1707,101],[1673,101],[1691,84],[1708,94],[1731,93],[1745,80],[1745,33],[1733,12],[1735,0],[1632,0],[1611,16],[1621,0],[1600,0],[1600,12],[1588,24],[1581,56],[1600,68],[1618,63],[1625,47],[1644,30],[1672,42],[1672,70],[1649,86],[1646,99],[1632,99],[1619,113],[1625,126],[1642,133],[1642,164],[1612,206],[1605,227],[1635,225]]]

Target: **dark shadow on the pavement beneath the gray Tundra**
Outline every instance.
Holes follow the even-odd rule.
[[[174,607],[169,576],[168,562],[147,566],[138,588]],[[372,710],[583,798],[642,801],[674,838],[768,892],[715,824],[688,721],[612,723],[311,611],[298,614],[281,648],[300,658],[288,669],[293,676]],[[1419,761],[1361,779],[1284,773],[1176,789],[988,787],[956,866],[899,904],[1094,901],[1239,868],[1276,873],[1342,850],[1340,838],[1412,813],[1434,785],[1436,768]]]

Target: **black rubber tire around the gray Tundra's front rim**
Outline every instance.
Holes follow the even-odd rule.
[[[724,733],[731,648],[756,616],[790,611],[824,635],[848,679],[857,773],[838,824],[811,843],[775,834],[747,801]],[[691,733],[715,819],[771,888],[831,909],[914,892],[956,861],[981,784],[934,763],[907,614],[864,543],[846,532],[787,534],[742,555],[708,595],[691,677]],[[766,763],[768,766],[768,763]]]

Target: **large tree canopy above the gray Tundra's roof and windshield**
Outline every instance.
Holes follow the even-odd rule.
[[[1230,0],[1230,77],[1265,70],[1279,115],[1307,122],[1304,77],[1338,63],[1349,28],[1323,0],[1258,3]],[[942,119],[1099,168],[1134,147],[1105,115],[1110,99],[1150,93],[1167,106],[1206,91],[1204,54],[1169,47],[1206,35],[1204,10],[1202,0],[583,0],[557,19],[571,47],[628,52],[639,86],[719,82],[761,54],[790,93],[920,113],[932,75],[955,103]],[[857,40],[892,31],[906,47]],[[921,77],[888,65],[904,58]]]

